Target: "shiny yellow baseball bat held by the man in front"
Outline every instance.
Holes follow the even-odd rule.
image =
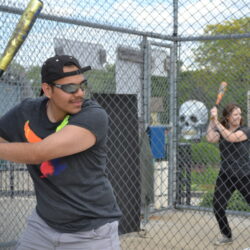
[[[0,58],[0,77],[3,75],[4,71],[7,69],[13,57],[26,39],[37,16],[41,12],[42,7],[43,2],[40,0],[30,0],[27,5],[12,33],[2,57]]]

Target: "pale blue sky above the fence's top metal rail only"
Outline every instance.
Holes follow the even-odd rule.
[[[0,0],[24,8],[28,0]],[[172,0],[43,0],[42,13],[172,34]],[[205,24],[250,16],[250,0],[181,0],[178,2],[180,35],[201,34]]]

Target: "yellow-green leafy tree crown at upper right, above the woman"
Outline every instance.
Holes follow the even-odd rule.
[[[205,35],[216,36],[222,34],[244,34],[250,30],[250,17],[225,21],[222,24],[208,25]],[[213,72],[230,72],[241,82],[249,81],[250,40],[212,40],[201,42],[194,51],[196,62],[202,68]]]

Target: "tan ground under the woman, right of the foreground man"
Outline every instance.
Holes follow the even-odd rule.
[[[224,247],[213,245],[219,235],[213,214],[197,211],[168,211],[151,216],[145,231],[121,236],[123,250],[243,250],[250,249],[250,220],[228,216],[234,242]]]

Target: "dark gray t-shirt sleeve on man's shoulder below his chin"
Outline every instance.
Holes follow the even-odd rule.
[[[81,112],[70,117],[68,124],[88,129],[99,142],[107,135],[108,115],[103,108],[83,108]]]

